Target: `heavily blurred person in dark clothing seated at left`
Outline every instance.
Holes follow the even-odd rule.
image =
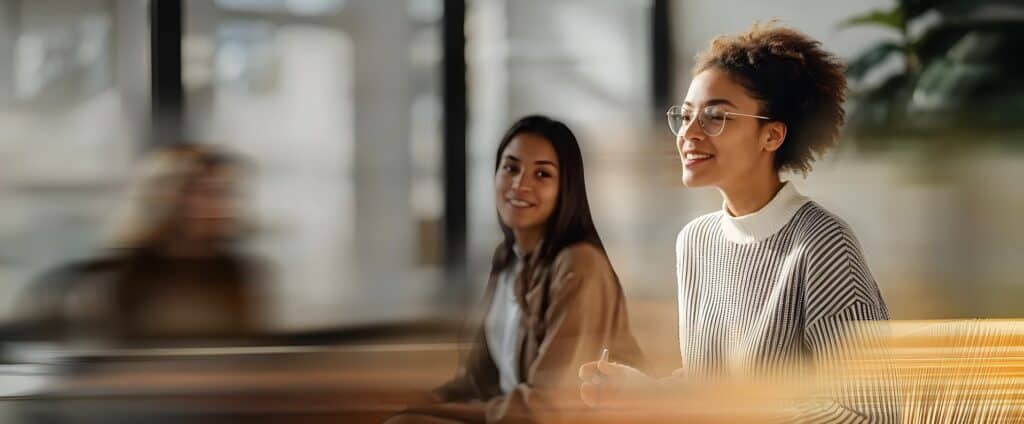
[[[238,250],[242,168],[206,145],[150,154],[117,215],[112,248],[46,272],[19,315],[41,338],[249,335],[262,273]]]

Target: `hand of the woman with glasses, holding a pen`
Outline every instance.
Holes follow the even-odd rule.
[[[608,406],[622,400],[623,391],[635,390],[654,383],[643,372],[606,359],[580,367],[580,397],[590,407]]]

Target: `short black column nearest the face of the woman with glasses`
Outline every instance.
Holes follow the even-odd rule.
[[[673,73],[675,49],[672,45],[671,0],[653,0],[651,5],[651,107],[657,113],[665,112],[675,101]]]

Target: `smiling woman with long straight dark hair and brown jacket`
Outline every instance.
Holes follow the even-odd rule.
[[[474,346],[457,377],[434,390],[434,405],[389,422],[540,420],[584,407],[577,370],[602,349],[644,367],[591,217],[572,132],[542,116],[519,120],[498,146],[495,172],[505,240]]]

